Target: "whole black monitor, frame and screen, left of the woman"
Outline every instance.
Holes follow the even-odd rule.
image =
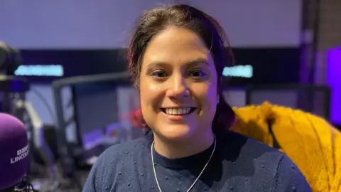
[[[70,92],[70,102],[63,98],[64,90]],[[121,117],[139,107],[139,103],[131,102],[139,97],[136,93],[129,73],[85,75],[53,82],[58,149],[65,177],[74,176],[78,162],[101,154],[107,146],[144,134],[143,129],[131,127],[129,118]],[[67,138],[72,132],[74,140]]]

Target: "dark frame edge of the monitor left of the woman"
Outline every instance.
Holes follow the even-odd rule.
[[[72,78],[65,78],[55,80],[52,83],[53,96],[55,102],[55,115],[57,120],[57,137],[58,137],[58,148],[60,153],[60,160],[63,166],[63,176],[65,178],[73,178],[75,173],[75,162],[73,160],[75,148],[67,142],[65,129],[68,125],[67,120],[64,119],[63,112],[63,98],[60,93],[63,87],[73,86],[86,82],[105,82],[112,81],[117,83],[130,82],[131,75],[128,72],[124,73],[105,73],[99,75],[83,75]],[[80,139],[80,135],[77,134],[77,139]]]

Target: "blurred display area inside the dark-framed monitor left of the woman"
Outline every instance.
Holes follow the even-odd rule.
[[[73,97],[77,133],[85,150],[143,135],[143,129],[134,127],[128,117],[139,109],[139,95],[131,85],[87,82],[73,86]]]

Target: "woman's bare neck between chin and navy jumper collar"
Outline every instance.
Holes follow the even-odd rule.
[[[212,131],[205,134],[201,133],[197,136],[193,135],[183,141],[170,141],[158,137],[158,135],[154,133],[154,148],[158,154],[161,154],[162,156],[169,159],[177,159],[205,151],[205,149],[208,149],[213,144],[214,140],[215,135]]]

